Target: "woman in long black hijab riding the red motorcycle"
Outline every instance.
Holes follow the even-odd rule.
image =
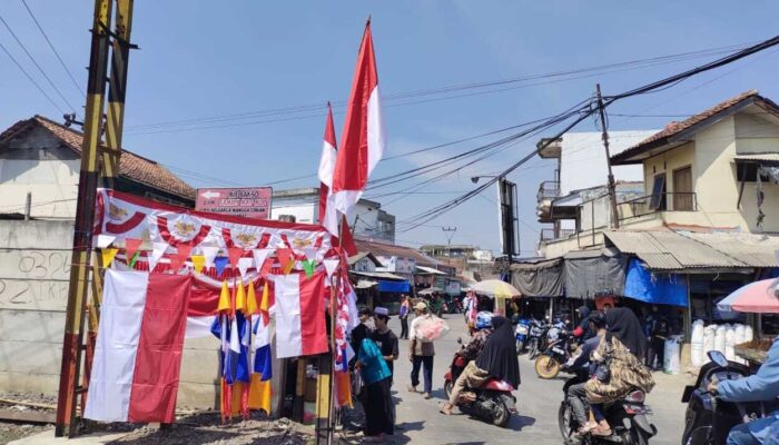
[[[475,360],[465,366],[463,373],[452,387],[452,393],[441,412],[452,414],[457,405],[460,394],[465,387],[477,388],[490,378],[497,378],[520,386],[520,362],[516,359],[514,329],[505,317],[492,317],[493,332],[486,339],[484,348]]]

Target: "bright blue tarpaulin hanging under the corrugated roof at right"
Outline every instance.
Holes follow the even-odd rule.
[[[687,281],[676,274],[652,274],[632,258],[624,277],[625,297],[655,305],[687,307]]]

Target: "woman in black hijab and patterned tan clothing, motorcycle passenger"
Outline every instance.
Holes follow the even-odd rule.
[[[610,436],[611,426],[599,405],[622,399],[631,390],[649,393],[654,387],[652,373],[641,363],[647,337],[632,310],[618,307],[605,313],[607,333],[592,354],[599,365],[595,377],[586,383],[586,397],[599,422],[593,434]]]

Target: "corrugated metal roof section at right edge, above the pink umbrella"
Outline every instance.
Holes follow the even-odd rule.
[[[749,267],[779,267],[779,237],[751,234],[684,234]]]

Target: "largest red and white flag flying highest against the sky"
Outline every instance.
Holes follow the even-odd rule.
[[[333,174],[335,207],[344,215],[359,200],[368,176],[382,159],[385,146],[378,73],[371,37],[371,21],[357,57],[357,68],[346,108],[341,150]]]

